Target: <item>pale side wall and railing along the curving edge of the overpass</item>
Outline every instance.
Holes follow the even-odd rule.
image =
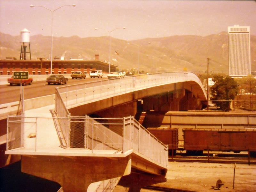
[[[58,90],[68,107],[148,87],[185,81],[195,81],[204,90],[201,81],[194,73],[184,71],[125,76],[124,78],[67,85],[58,87]],[[205,92],[204,95],[206,98]]]

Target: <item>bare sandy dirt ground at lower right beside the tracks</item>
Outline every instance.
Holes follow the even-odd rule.
[[[233,189],[234,164],[213,163],[180,163],[169,162],[167,181],[157,186],[197,192],[213,192],[211,186],[221,180],[222,192],[254,192],[256,191],[256,165],[236,164],[235,184]],[[115,192],[125,192],[122,186],[117,186]],[[141,189],[141,192],[152,190]]]

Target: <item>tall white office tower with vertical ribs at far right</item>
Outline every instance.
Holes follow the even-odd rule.
[[[251,74],[250,27],[228,27],[229,76]]]

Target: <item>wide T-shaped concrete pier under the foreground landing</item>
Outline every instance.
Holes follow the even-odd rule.
[[[131,156],[22,156],[21,171],[58,182],[65,192],[87,191],[91,183],[131,173]]]

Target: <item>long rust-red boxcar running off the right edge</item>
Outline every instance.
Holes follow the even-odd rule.
[[[183,129],[184,149],[188,154],[211,151],[256,152],[255,129]]]

